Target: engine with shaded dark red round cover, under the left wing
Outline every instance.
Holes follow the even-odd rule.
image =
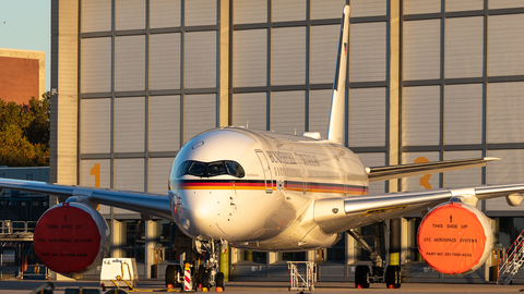
[[[109,228],[102,215],[82,203],[48,209],[35,228],[34,247],[49,269],[73,275],[100,265],[109,249]]]

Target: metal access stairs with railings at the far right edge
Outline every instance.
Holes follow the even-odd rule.
[[[524,264],[524,230],[521,232],[515,242],[505,252],[504,258],[499,264],[499,279],[497,284],[504,282],[504,284],[511,283],[511,279],[519,271]]]

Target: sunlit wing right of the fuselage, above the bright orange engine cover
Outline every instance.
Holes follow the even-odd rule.
[[[475,206],[478,200],[505,196],[508,204],[514,206],[521,203],[523,195],[524,183],[520,183],[329,198],[317,200],[314,220],[325,233],[335,233],[414,212],[427,212],[453,198]]]

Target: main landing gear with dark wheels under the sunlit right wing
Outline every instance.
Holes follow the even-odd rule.
[[[401,287],[401,267],[400,266],[388,266],[384,271],[385,261],[382,260],[380,245],[383,241],[382,234],[380,233],[380,223],[374,224],[374,230],[372,235],[362,236],[355,230],[349,230],[347,233],[354,237],[369,254],[369,257],[372,261],[371,272],[369,267],[366,265],[357,266],[355,269],[355,287],[366,289],[369,287],[370,283],[385,283],[388,289],[398,289]],[[374,246],[371,248],[366,242],[367,237],[373,237]]]

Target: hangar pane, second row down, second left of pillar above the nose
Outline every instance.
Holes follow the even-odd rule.
[[[180,34],[150,37],[150,89],[180,88]]]

